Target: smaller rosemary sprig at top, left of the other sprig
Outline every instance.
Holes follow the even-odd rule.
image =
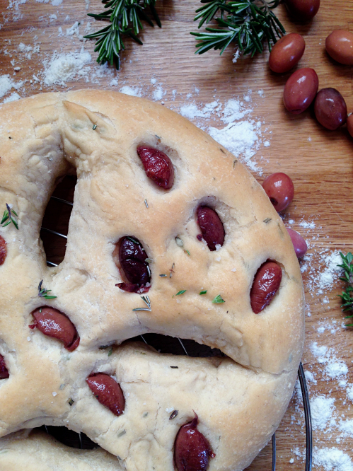
[[[108,62],[120,69],[120,51],[125,50],[122,36],[132,37],[134,41],[142,45],[143,42],[137,37],[139,31],[143,29],[141,20],[154,28],[154,23],[146,14],[146,6],[149,6],[159,28],[162,27],[155,8],[156,0],[102,0],[102,3],[104,8],[108,8],[107,10],[98,15],[88,13],[88,16],[96,20],[109,21],[110,24],[84,37],[96,40],[95,52],[98,51],[97,62],[99,64]]]

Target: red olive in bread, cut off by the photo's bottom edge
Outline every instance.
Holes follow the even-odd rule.
[[[207,438],[197,430],[198,417],[180,427],[174,443],[174,462],[178,471],[205,471],[214,458]]]

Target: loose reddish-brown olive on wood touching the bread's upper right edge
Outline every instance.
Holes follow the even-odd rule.
[[[294,185],[286,173],[272,173],[262,182],[262,187],[277,212],[283,211],[294,198]]]

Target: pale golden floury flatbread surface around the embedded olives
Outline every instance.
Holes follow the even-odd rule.
[[[195,411],[216,454],[209,471],[243,470],[282,419],[303,350],[299,264],[262,187],[210,136],[141,98],[46,93],[1,105],[0,117],[0,209],[9,204],[18,214],[18,231],[12,223],[0,228],[7,248],[0,354],[10,375],[0,380],[1,436],[64,425],[118,456],[122,469],[172,471],[175,436]],[[146,177],[141,144],[170,157],[170,190]],[[78,181],[66,254],[50,268],[40,225],[56,182],[72,168]],[[200,204],[215,209],[224,224],[219,250],[197,239]],[[115,286],[124,280],[112,252],[124,236],[139,239],[153,260],[151,311],[133,311],[144,307],[140,295]],[[279,264],[282,281],[270,305],[255,314],[250,289],[266,260]],[[172,277],[159,277],[172,266]],[[40,280],[57,298],[38,297]],[[207,294],[200,296],[202,289]],[[180,290],[186,291],[173,296]],[[225,302],[212,303],[219,294]],[[69,352],[28,328],[40,306],[69,317],[81,339],[77,349]],[[226,356],[159,354],[125,342],[146,332],[194,339]],[[110,355],[99,349],[112,344]],[[120,417],[88,388],[86,378],[96,372],[120,383],[126,402]],[[173,410],[178,415],[170,420]],[[53,453],[60,456],[61,448]],[[66,470],[59,460],[56,466]]]

